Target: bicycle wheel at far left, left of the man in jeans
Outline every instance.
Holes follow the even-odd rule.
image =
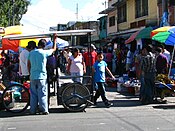
[[[29,90],[20,84],[13,84],[4,90],[2,103],[7,111],[21,113],[29,106]]]

